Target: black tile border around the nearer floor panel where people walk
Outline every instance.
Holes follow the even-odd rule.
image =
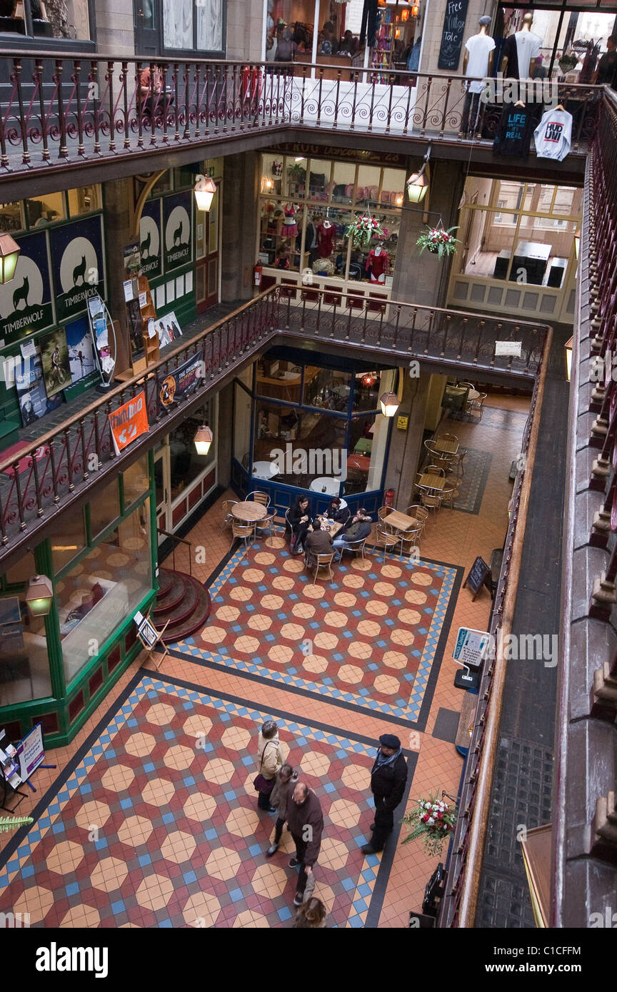
[[[198,692],[200,695],[210,695],[216,699],[223,699],[226,702],[233,702],[235,705],[247,706],[251,709],[259,710],[259,705],[256,705],[250,699],[243,699],[240,696],[230,695],[227,692],[217,692],[207,686],[197,685],[194,682],[187,682],[184,679],[174,679],[171,676],[164,675],[152,669],[138,669],[135,676],[127,683],[123,691],[117,696],[111,706],[109,706],[103,716],[98,720],[96,725],[90,731],[86,737],[83,744],[75,751],[74,755],[66,764],[66,767],[62,770],[55,782],[50,786],[48,791],[44,794],[42,799],[39,801],[37,806],[32,810],[31,815],[33,816],[35,822],[39,817],[46,811],[47,807],[57,798],[63,786],[66,784],[70,776],[74,773],[77,766],[80,764],[85,754],[89,749],[96,743],[102,731],[108,726],[113,717],[118,713],[122,706],[127,702],[137,685],[143,682],[144,679],[151,679],[153,682],[165,682],[168,685],[172,685],[179,688],[187,688],[191,691]],[[347,733],[341,727],[330,726],[326,723],[319,723],[316,721],[310,722],[309,719],[304,719],[299,717],[297,713],[288,713],[281,709],[270,709],[268,710],[268,715],[280,716],[285,720],[289,720],[292,723],[301,723],[309,727],[310,729],[322,730],[326,733],[335,734],[336,737],[340,737],[346,740],[355,741],[359,744],[364,744],[367,746],[377,746],[377,741],[374,738],[362,737],[357,734]],[[383,908],[384,898],[386,895],[386,889],[388,882],[390,880],[390,873],[392,866],[394,864],[394,856],[399,843],[399,837],[401,835],[402,821],[399,821],[397,828],[397,813],[401,814],[407,806],[407,801],[409,798],[410,790],[412,787],[412,782],[416,772],[416,766],[418,764],[418,752],[409,751],[407,748],[403,748],[403,754],[408,763],[408,777],[407,785],[405,789],[405,795],[401,801],[401,805],[397,806],[395,810],[395,827],[390,834],[384,851],[381,857],[379,868],[377,871],[377,878],[375,880],[375,885],[373,887],[373,892],[371,895],[368,912],[366,916],[366,921],[364,923],[364,929],[376,929],[379,924],[379,918],[381,916],[381,911]],[[86,780],[87,781],[87,780]],[[368,792],[368,786],[367,786]],[[13,857],[18,847],[23,843],[30,829],[34,826],[31,823],[27,826],[21,827],[17,833],[11,838],[9,843],[6,845],[4,850],[0,853],[0,869],[4,868],[7,862]],[[368,837],[366,838],[369,839]],[[363,871],[364,869],[361,869]],[[358,883],[362,884],[362,883]],[[2,890],[6,891],[6,890]],[[47,929],[47,928],[44,928]],[[50,928],[54,930],[55,928]],[[211,928],[216,930],[217,928]],[[285,928],[284,928],[285,929]]]

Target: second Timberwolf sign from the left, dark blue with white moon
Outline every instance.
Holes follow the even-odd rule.
[[[86,310],[88,297],[105,296],[101,223],[90,217],[50,232],[59,320]]]

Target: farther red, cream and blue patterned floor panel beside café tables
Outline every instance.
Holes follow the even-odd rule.
[[[345,556],[331,580],[313,584],[303,558],[275,544],[228,558],[209,583],[204,628],[172,651],[417,723],[460,569]]]

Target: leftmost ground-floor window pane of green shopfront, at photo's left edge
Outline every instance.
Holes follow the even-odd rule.
[[[44,617],[31,616],[25,589],[1,594],[0,706],[51,694]]]

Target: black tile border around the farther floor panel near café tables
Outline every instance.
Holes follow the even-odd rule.
[[[237,548],[232,548],[227,555],[219,561],[214,570],[208,575],[206,581],[203,583],[206,587],[209,588],[210,583],[218,577],[236,551]],[[295,695],[304,695],[309,699],[318,699],[320,702],[326,702],[332,706],[338,706],[341,709],[348,709],[356,713],[362,713],[363,716],[374,716],[378,719],[385,720],[388,723],[396,723],[399,726],[409,727],[410,729],[424,732],[429,719],[429,714],[431,712],[432,696],[434,694],[434,688],[441,669],[443,652],[445,650],[445,645],[447,644],[447,637],[452,623],[452,618],[454,616],[454,609],[458,600],[458,594],[460,592],[464,568],[462,565],[450,564],[446,561],[436,561],[434,558],[421,558],[421,560],[426,561],[428,564],[436,564],[441,565],[444,568],[452,568],[455,574],[449,601],[445,610],[445,616],[443,617],[443,623],[441,625],[439,639],[434,649],[431,674],[425,688],[423,700],[420,706],[420,713],[416,721],[408,720],[403,716],[395,716],[392,713],[383,713],[377,709],[369,709],[367,706],[359,706],[356,703],[346,702],[343,699],[336,699],[335,697],[328,696],[325,693],[313,692],[311,689],[301,688],[298,685],[289,685],[287,682],[275,682],[275,680],[269,679],[267,676],[258,676],[252,672],[242,672],[239,669],[230,668],[228,665],[220,665],[218,662],[206,662],[203,659],[195,658],[194,655],[185,655],[182,651],[170,651],[169,654],[173,658],[178,658],[180,661],[188,664],[197,665],[200,668],[214,669],[216,672],[227,672],[238,679],[246,679],[249,682],[260,682],[263,685],[274,685],[276,688],[283,689],[286,692],[292,692]],[[212,603],[212,605],[214,604]],[[212,655],[217,654],[217,652],[214,651],[209,653]]]

